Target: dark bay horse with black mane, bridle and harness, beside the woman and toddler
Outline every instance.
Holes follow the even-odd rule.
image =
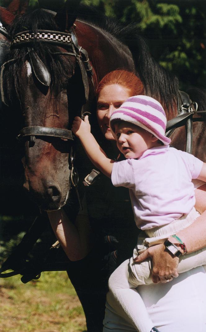
[[[74,140],[71,124],[75,116],[91,113],[95,135],[105,144],[95,122],[95,90],[108,72],[118,68],[135,72],[145,94],[164,105],[168,121],[179,109],[185,119],[185,112],[194,113],[189,98],[184,101],[178,91],[178,80],[155,62],[133,25],[121,27],[97,15],[91,22],[76,15],[75,5],[66,1],[57,13],[32,10],[15,19],[9,31],[11,50],[1,72],[3,101],[17,105],[15,112],[22,115],[16,131],[20,130],[24,149],[24,188],[41,211],[66,207],[73,191],[81,196],[75,166],[82,182],[92,165]],[[201,114],[196,117],[202,119]],[[172,145],[185,149],[184,127],[172,131]],[[205,123],[196,121],[193,154],[205,161],[204,131]],[[191,134],[188,137],[191,147]],[[72,208],[69,217],[75,219],[79,206]]]

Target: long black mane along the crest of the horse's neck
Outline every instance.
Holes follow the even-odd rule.
[[[113,17],[107,17],[96,8],[85,5],[80,5],[78,18],[99,27],[127,45],[133,56],[136,74],[144,85],[145,94],[159,100],[166,108],[173,105],[178,96],[178,79],[155,61],[135,24],[122,25]]]

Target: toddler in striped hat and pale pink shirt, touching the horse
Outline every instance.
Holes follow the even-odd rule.
[[[129,188],[139,236],[133,257],[123,262],[111,275],[109,289],[116,311],[139,332],[158,331],[152,323],[136,288],[152,283],[150,259],[135,259],[148,247],[164,243],[165,249],[180,258],[178,273],[206,264],[206,250],[188,254],[175,235],[197,217],[192,179],[206,181],[206,164],[193,155],[169,147],[165,136],[166,116],[159,102],[148,96],[127,99],[110,118],[110,128],[117,147],[126,160],[109,159],[90,132],[88,117],[75,117],[72,131],[79,137],[92,163],[114,186]],[[145,235],[146,233],[146,235]],[[175,244],[168,238],[175,238]],[[168,281],[172,277],[168,278]]]

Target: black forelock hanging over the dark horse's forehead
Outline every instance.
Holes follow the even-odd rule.
[[[58,31],[58,27],[51,13],[41,9],[29,10],[22,16],[17,16],[8,31],[10,39],[22,31],[31,30],[36,33],[37,30]],[[66,88],[68,79],[72,76],[74,65],[68,60],[68,57],[62,55],[54,55],[52,52],[58,52],[59,48],[46,43],[34,43],[30,49],[34,50],[40,59],[48,67],[51,74],[51,94],[57,96],[63,88]],[[14,91],[16,91],[17,99],[21,101],[21,86],[19,77],[21,76],[21,68],[26,59],[29,59],[26,47],[11,49],[7,55],[7,59],[14,59],[8,65],[4,73],[4,83],[7,86],[7,98],[12,101]],[[63,75],[62,75],[63,73]]]

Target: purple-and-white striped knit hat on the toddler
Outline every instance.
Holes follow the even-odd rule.
[[[171,139],[165,136],[167,119],[163,107],[152,97],[143,95],[130,97],[112,113],[110,128],[114,137],[114,123],[117,120],[136,124],[151,132],[164,145],[171,142]]]

